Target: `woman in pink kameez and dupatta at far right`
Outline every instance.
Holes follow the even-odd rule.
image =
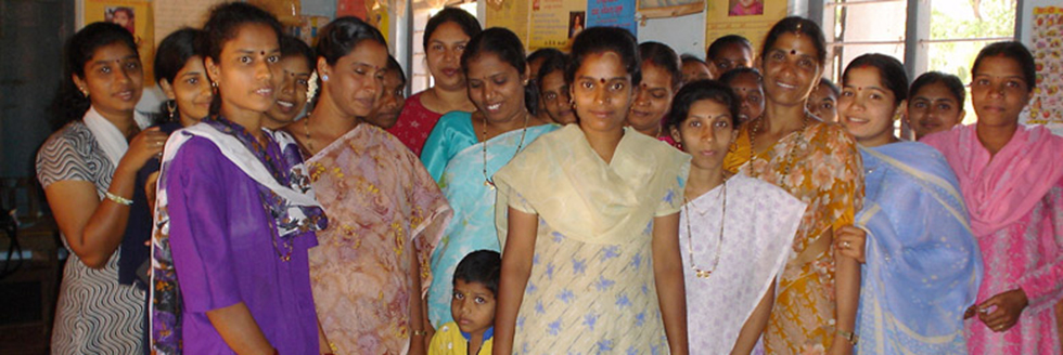
[[[971,70],[978,121],[927,135],[956,171],[985,277],[965,328],[971,354],[1059,354],[1052,307],[1063,297],[1063,139],[1019,124],[1034,57],[989,44]]]

